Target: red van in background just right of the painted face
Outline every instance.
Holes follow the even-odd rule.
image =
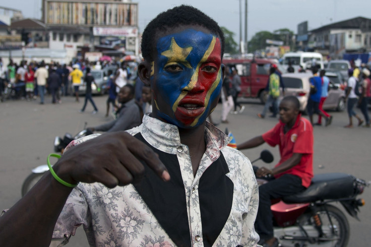
[[[273,60],[267,58],[223,59],[223,64],[230,72],[234,67],[241,78],[239,97],[260,98],[261,102],[265,103],[264,89],[269,78],[269,68],[275,64]]]

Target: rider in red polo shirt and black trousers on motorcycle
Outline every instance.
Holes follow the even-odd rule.
[[[311,184],[313,177],[313,127],[301,117],[295,96],[282,99],[280,122],[265,134],[237,145],[237,149],[254,148],[263,143],[279,145],[281,159],[273,169],[261,167],[258,177],[273,175],[275,179],[259,187],[259,209],[255,221],[263,246],[278,246],[273,234],[271,200],[296,194]]]

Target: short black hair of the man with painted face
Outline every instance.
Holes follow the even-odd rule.
[[[153,61],[152,53],[155,49],[154,38],[157,32],[165,32],[169,28],[179,27],[182,25],[198,25],[217,35],[221,42],[221,55],[224,53],[224,34],[216,21],[208,15],[188,5],[180,5],[158,14],[142,34],[142,56],[147,61]]]

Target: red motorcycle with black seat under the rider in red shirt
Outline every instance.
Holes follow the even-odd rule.
[[[263,150],[255,161],[273,161],[273,155]],[[254,171],[258,169],[254,166]],[[257,177],[259,186],[273,179]],[[274,236],[280,246],[347,246],[349,223],[344,213],[332,203],[339,202],[357,220],[363,199],[357,199],[370,182],[345,173],[316,174],[311,186],[299,194],[272,200]],[[339,189],[341,188],[341,189]]]

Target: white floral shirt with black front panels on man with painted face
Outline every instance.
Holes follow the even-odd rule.
[[[153,181],[156,178],[148,181],[150,187],[145,185],[144,189],[133,184],[108,189],[100,183],[79,183],[57,220],[54,242],[67,243],[76,228],[83,225],[91,246],[257,246],[259,235],[254,229],[257,182],[249,159],[227,146],[229,138],[224,133],[207,123],[207,149],[194,176],[189,149],[180,143],[177,127],[147,113],[143,124],[128,132],[136,137],[140,135],[158,150],[160,159],[166,157],[163,163],[173,165],[166,165],[168,169],[178,170],[177,177],[169,170],[170,181],[180,180],[178,188],[172,191],[176,186],[166,187],[169,182]],[[76,140],[69,146],[96,136]],[[221,165],[212,166],[213,163]],[[220,173],[223,164],[225,174]],[[214,176],[216,173],[222,176]],[[208,184],[212,184],[210,188]],[[230,190],[223,184],[229,184]],[[157,186],[160,190],[156,190]],[[209,199],[214,200],[212,205]],[[157,204],[161,205],[157,207]],[[167,204],[170,208],[166,208]],[[215,230],[218,226],[220,229]],[[214,235],[210,237],[212,240],[210,235]],[[179,243],[182,240],[178,237],[185,240]]]

